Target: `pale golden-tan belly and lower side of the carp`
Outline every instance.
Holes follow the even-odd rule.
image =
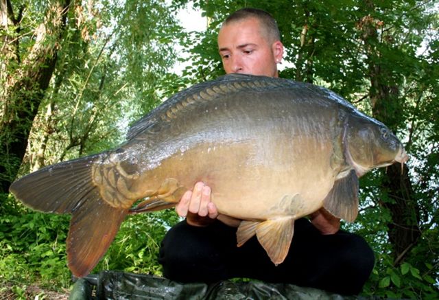
[[[300,218],[322,207],[334,182],[331,145],[316,143],[285,143],[284,137],[200,143],[161,161],[143,182],[158,189],[172,178],[192,189],[203,181],[219,213],[234,218]]]

